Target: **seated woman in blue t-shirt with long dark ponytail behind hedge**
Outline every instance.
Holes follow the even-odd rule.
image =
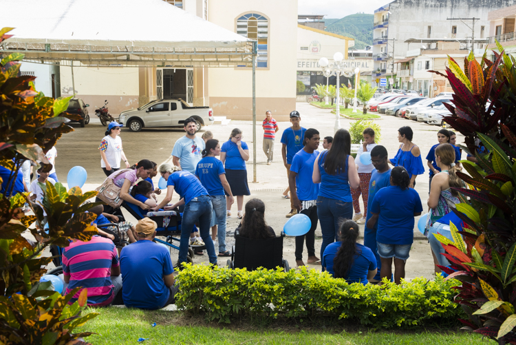
[[[334,278],[348,283],[367,284],[376,275],[376,258],[371,249],[356,243],[358,224],[345,220],[338,231],[338,242],[324,250],[322,265]]]

